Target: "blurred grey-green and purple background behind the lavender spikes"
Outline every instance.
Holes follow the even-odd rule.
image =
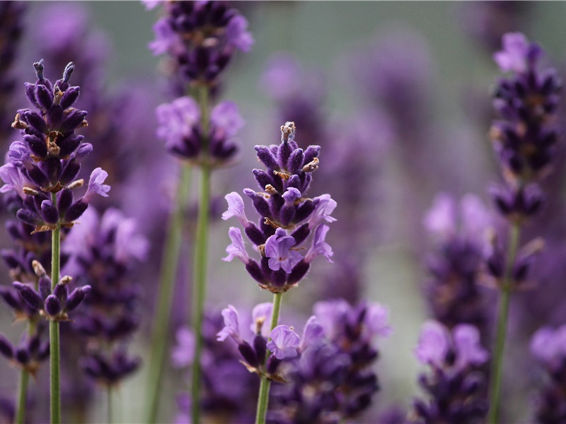
[[[238,136],[238,161],[214,174],[216,218],[226,208],[224,194],[255,187],[251,169],[258,165],[253,146],[279,143],[279,126],[285,121],[296,122],[300,146],[320,144],[320,170],[311,195],[328,192],[337,199],[336,225],[345,223],[346,229],[335,234],[331,230],[329,243],[335,262],[340,254],[350,255],[350,262],[333,268],[335,264],[317,261],[301,287],[285,296],[282,320],[302,325],[313,302],[335,294],[350,296],[352,302],[366,298],[386,305],[394,333],[379,341],[381,391],[374,409],[383,411],[393,404],[408,409],[419,393],[420,365],[413,350],[420,325],[430,316],[422,282],[427,278],[424,258],[432,240],[422,226],[423,217],[439,192],[456,198],[474,193],[489,203],[487,187],[499,179],[487,139],[494,116],[490,89],[499,75],[492,54],[500,48],[502,33],[518,30],[541,44],[548,64],[562,69],[566,4],[238,1],[236,7],[248,18],[255,44],[250,53],[236,54],[219,95],[238,104],[246,126]],[[94,45],[84,42],[77,52],[96,53],[96,72],[77,66],[71,83],[81,81],[85,90],[93,83],[90,95],[98,100],[112,98],[117,112],[111,115],[120,117],[119,128],[112,134],[93,136],[103,139],[100,146],[88,139],[88,133],[86,140],[95,151],[103,151],[103,163],[110,169],[102,166],[110,179],[112,170],[120,175],[115,177],[117,187],[110,192],[109,204],[134,216],[140,232],[151,242],[149,256],[134,278],[141,293],[141,325],[130,351],[142,361],[177,169],[155,136],[154,107],[172,99],[161,59],[147,48],[154,39],[151,28],[158,13],[157,9],[146,11],[137,1],[25,2],[14,65],[17,100],[11,102],[13,110],[27,107],[23,90],[18,90],[24,81],[35,81],[33,61],[54,48],[61,33],[70,31],[79,40],[96,39]],[[67,25],[69,17],[81,24]],[[84,63],[88,66],[88,61]],[[46,68],[53,80],[61,71]],[[83,72],[88,76],[81,77]],[[105,102],[101,100],[99,107],[104,110]],[[96,121],[89,119],[89,124],[89,130],[96,129]],[[17,136],[5,136],[4,151]],[[148,211],[142,204],[152,204],[156,210]],[[101,203],[100,208],[105,207]],[[228,303],[251,307],[270,300],[242,266],[220,260],[229,245],[229,225],[216,219],[210,236],[207,303],[216,310]],[[189,317],[189,291],[181,274],[190,275],[192,254],[190,245],[184,249],[187,261],[176,289],[175,327]],[[2,274],[9,284],[7,271]],[[336,277],[341,283],[334,281]],[[0,316],[1,331],[16,339],[21,328],[10,326],[11,312],[1,307]],[[172,328],[172,339],[174,332]],[[9,398],[16,371],[5,362],[1,367],[0,396]],[[37,384],[47,383],[45,368]],[[118,391],[123,401],[118,413],[121,422],[142,420],[145,370],[142,365]],[[521,384],[528,399],[530,383]],[[171,421],[175,391],[182,383],[172,377],[166,386],[172,401],[171,409],[163,411],[163,420]],[[88,422],[103,422],[103,395],[93,396],[84,416]],[[36,402],[45,407],[42,396]],[[514,422],[529,422],[529,402],[512,405]]]

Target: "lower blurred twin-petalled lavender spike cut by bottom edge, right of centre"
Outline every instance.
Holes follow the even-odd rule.
[[[449,331],[439,322],[426,322],[415,354],[431,373],[419,384],[429,400],[415,400],[415,415],[424,423],[483,423],[487,414],[486,375],[489,355],[478,329],[458,324]]]

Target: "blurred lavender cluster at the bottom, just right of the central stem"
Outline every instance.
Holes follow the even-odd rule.
[[[299,342],[299,355],[282,365],[287,383],[273,387],[267,414],[270,423],[352,419],[371,404],[379,389],[371,365],[378,358],[374,341],[391,334],[388,311],[378,304],[352,307],[345,300],[317,302],[313,309],[315,315],[308,319]],[[294,348],[298,336],[279,327],[283,327],[280,335],[291,339],[287,343]]]

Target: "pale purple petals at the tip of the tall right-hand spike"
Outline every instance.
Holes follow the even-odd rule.
[[[536,43],[529,43],[521,33],[503,35],[503,49],[493,55],[503,72],[524,73],[542,56],[543,50]]]

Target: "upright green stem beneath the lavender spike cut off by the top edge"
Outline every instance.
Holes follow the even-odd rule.
[[[210,176],[212,173],[208,155],[208,88],[200,87],[199,103],[202,133],[202,165],[200,174],[200,196],[197,218],[197,235],[195,238],[195,262],[192,279],[192,329],[195,331],[195,355],[192,365],[191,382],[191,417],[192,423],[200,423],[200,356],[202,352],[202,321],[204,301],[207,290],[207,260],[208,260],[208,226],[210,204]]]

